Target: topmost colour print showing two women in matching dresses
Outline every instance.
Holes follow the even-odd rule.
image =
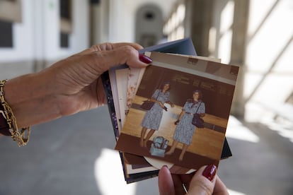
[[[189,169],[218,165],[239,67],[150,56],[115,149]]]

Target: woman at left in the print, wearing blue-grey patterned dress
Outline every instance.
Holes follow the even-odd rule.
[[[144,119],[142,119],[142,132],[140,136],[139,145],[142,147],[146,147],[146,143],[154,134],[154,131],[159,129],[161,119],[163,116],[163,110],[167,111],[167,107],[164,105],[165,103],[174,107],[173,103],[169,100],[169,89],[170,83],[163,83],[160,89],[157,89],[153,95],[151,95],[151,101],[155,102],[153,107],[146,112],[144,115]],[[146,135],[147,129],[151,129],[149,133]],[[146,135],[146,138],[144,138]]]

